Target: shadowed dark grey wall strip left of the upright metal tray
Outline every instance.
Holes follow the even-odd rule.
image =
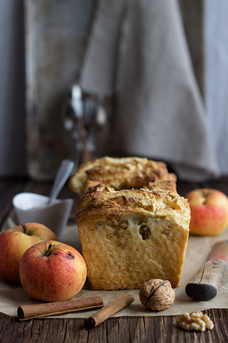
[[[0,176],[26,173],[24,22],[21,0],[0,2]]]

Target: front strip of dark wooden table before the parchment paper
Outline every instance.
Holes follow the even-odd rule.
[[[19,322],[17,318],[0,315],[1,343],[214,343],[228,341],[227,309],[204,311],[215,327],[205,332],[178,328],[176,316],[109,318],[93,329],[83,319],[33,319]]]

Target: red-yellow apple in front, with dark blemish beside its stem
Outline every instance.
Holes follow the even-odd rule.
[[[82,255],[73,247],[49,240],[34,244],[22,256],[20,279],[34,299],[64,301],[83,288],[87,268]]]

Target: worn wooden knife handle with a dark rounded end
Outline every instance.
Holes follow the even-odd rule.
[[[213,299],[220,286],[225,261],[209,260],[197,272],[195,278],[185,287],[185,292],[189,298],[195,300]]]

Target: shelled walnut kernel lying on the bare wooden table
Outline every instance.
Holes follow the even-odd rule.
[[[180,315],[177,317],[176,322],[181,329],[188,331],[205,331],[206,329],[212,330],[214,327],[214,324],[208,315],[204,315],[201,311]]]

